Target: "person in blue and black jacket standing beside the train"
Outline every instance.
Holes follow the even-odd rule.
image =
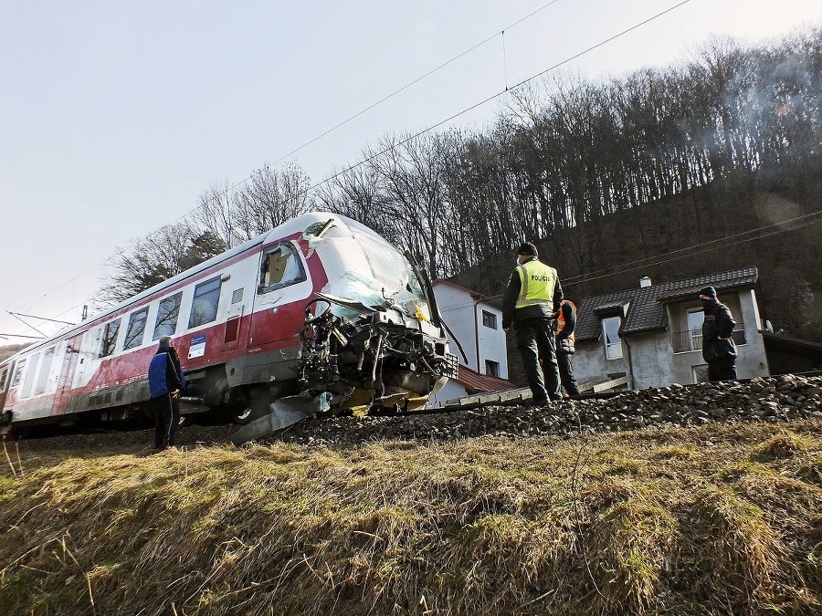
[[[154,448],[174,445],[174,432],[180,421],[180,393],[185,389],[185,373],[174,350],[171,336],[163,336],[149,364],[149,389],[154,411]]]

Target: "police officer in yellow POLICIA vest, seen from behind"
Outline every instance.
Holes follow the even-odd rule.
[[[563,287],[556,270],[540,262],[537,256],[536,246],[531,242],[522,244],[517,252],[517,268],[502,297],[502,329],[507,332],[513,325],[516,330],[532,403],[544,404],[562,399],[553,314],[562,304]]]

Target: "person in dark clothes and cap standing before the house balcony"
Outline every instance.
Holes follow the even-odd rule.
[[[730,381],[736,378],[736,343],[731,338],[736,322],[731,310],[716,298],[716,289],[700,291],[702,310],[702,359],[708,363],[708,381]]]

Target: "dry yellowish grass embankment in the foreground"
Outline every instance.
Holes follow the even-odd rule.
[[[822,611],[819,422],[342,451],[7,446],[2,614]]]

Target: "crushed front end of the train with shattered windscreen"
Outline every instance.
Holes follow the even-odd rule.
[[[333,214],[300,245],[320,257],[328,279],[304,308],[300,392],[272,403],[239,441],[317,412],[415,411],[457,376],[433,288],[412,256]]]

